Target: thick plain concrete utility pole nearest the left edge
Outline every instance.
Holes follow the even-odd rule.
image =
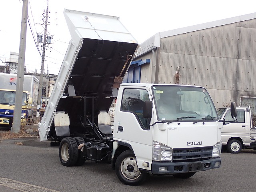
[[[14,133],[20,132],[20,118],[22,112],[22,94],[23,94],[23,80],[25,68],[25,52],[26,52],[26,35],[28,22],[28,0],[23,0],[22,19],[20,29],[20,49],[18,60],[17,84],[15,94],[14,119],[12,131]]]

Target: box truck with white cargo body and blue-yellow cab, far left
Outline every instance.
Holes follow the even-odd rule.
[[[13,118],[17,74],[0,73],[0,126],[8,126]],[[39,80],[35,76],[24,75],[22,93],[21,122],[24,124],[30,114],[28,108],[36,106]],[[30,102],[29,103],[29,98]]]

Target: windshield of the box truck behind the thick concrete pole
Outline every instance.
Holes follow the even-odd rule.
[[[22,105],[26,105],[27,93],[22,93]],[[0,104],[14,105],[15,104],[15,91],[0,90]]]

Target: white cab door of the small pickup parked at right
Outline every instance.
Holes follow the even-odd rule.
[[[224,123],[222,128],[222,138],[223,141],[227,141],[230,137],[236,136],[240,137],[244,144],[250,141],[250,137],[248,138],[248,125],[245,118],[246,111],[243,109],[237,109],[237,122],[233,123]],[[232,121],[231,112],[228,110],[223,118],[226,121]]]

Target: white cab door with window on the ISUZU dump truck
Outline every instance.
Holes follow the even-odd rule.
[[[114,139],[132,147],[139,168],[145,168],[144,161],[152,160],[153,129],[142,114],[144,101],[149,98],[146,89],[125,88],[115,112]]]

